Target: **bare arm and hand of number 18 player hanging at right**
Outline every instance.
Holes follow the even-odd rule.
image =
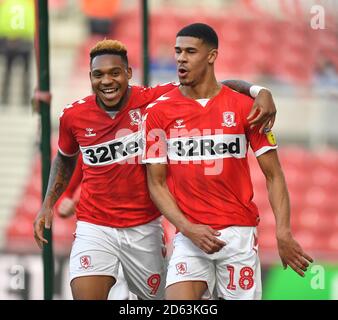
[[[308,262],[313,262],[313,259],[292,236],[289,194],[277,151],[270,150],[260,155],[257,160],[266,178],[269,201],[276,220],[278,251],[284,269],[289,265],[300,276],[304,276]]]

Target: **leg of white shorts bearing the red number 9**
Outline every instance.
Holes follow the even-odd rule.
[[[159,219],[126,228],[121,264],[129,290],[142,300],[164,298],[166,278],[165,245]]]

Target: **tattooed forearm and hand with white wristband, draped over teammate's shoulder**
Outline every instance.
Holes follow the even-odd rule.
[[[255,99],[248,120],[251,126],[260,125],[260,132],[271,129],[276,118],[276,106],[271,92],[243,80],[223,80],[227,87]]]

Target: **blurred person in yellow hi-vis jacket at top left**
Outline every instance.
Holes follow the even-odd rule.
[[[33,37],[34,1],[0,0],[0,43],[1,54],[5,58],[1,104],[7,105],[9,103],[10,88],[21,90],[21,103],[23,105],[29,104]],[[21,60],[18,65],[22,68],[22,86],[20,84],[11,86],[16,60]]]

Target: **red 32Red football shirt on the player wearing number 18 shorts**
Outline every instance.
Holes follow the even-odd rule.
[[[143,161],[168,162],[169,188],[191,222],[215,229],[258,224],[248,145],[256,156],[277,145],[271,133],[250,129],[252,103],[223,86],[216,97],[200,101],[176,88],[147,107]]]

